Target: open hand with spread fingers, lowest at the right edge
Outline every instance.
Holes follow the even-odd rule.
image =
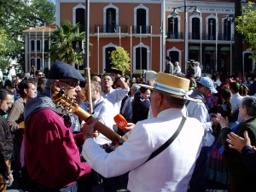
[[[241,153],[241,149],[246,146],[252,148],[247,131],[244,131],[243,136],[244,138],[237,136],[234,132],[230,132],[228,135],[229,138],[227,138],[227,142],[230,143],[229,147],[236,149],[239,153]]]

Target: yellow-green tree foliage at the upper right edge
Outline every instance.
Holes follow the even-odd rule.
[[[248,44],[249,49],[253,51],[253,57],[256,57],[256,10],[255,3],[247,3],[243,7],[243,15],[238,16],[235,20],[236,31],[243,35],[243,40]]]

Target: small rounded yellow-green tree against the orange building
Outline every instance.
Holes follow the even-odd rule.
[[[117,47],[111,52],[109,59],[113,67],[119,69],[123,73],[130,70],[131,59],[128,52],[124,48]]]

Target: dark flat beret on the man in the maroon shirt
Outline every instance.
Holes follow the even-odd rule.
[[[78,81],[85,81],[83,76],[79,73],[75,67],[67,64],[63,61],[55,61],[50,67],[47,79],[77,79]]]

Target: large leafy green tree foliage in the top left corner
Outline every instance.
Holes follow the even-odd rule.
[[[0,26],[5,30],[7,41],[3,60],[16,58],[24,61],[22,32],[29,27],[44,26],[55,21],[55,4],[48,0],[1,0]]]

